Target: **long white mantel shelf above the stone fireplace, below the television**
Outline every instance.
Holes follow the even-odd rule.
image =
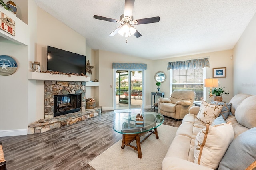
[[[99,82],[90,82],[90,77],[50,73],[28,72],[29,80],[49,80],[49,81],[86,81],[86,86],[99,86]]]

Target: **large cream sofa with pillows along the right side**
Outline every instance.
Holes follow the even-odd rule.
[[[238,94],[230,103],[232,114],[228,115],[226,123],[213,127],[198,119],[200,107],[191,107],[168,149],[162,169],[256,168],[256,96]],[[216,136],[214,133],[210,134],[217,128]],[[218,133],[222,137],[218,136]],[[203,136],[202,143],[200,135]],[[219,150],[214,147],[219,147]]]

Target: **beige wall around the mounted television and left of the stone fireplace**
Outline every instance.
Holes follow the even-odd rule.
[[[47,70],[47,45],[64,49],[73,53],[86,55],[85,38],[66,26],[41,8],[37,7],[37,42],[35,61],[41,64],[41,71]],[[87,60],[87,57],[86,57]],[[34,62],[30,60],[30,65]],[[30,123],[44,118],[44,81],[30,80],[36,83],[32,93],[36,95],[36,119]],[[30,102],[30,101],[29,101]],[[34,101],[31,101],[34,102]]]

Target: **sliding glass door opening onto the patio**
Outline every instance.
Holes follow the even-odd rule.
[[[115,70],[114,109],[140,108],[143,99],[143,71]]]

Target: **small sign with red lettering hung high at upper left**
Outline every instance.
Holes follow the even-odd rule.
[[[14,31],[15,21],[12,20],[12,18],[6,16],[4,13],[2,13],[2,12],[0,12],[0,13],[1,13],[0,28],[4,31],[8,32],[12,36],[15,36],[15,31]]]

